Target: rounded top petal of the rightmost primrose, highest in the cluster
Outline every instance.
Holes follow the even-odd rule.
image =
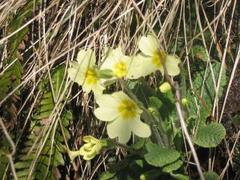
[[[148,56],[153,56],[153,54],[160,48],[158,39],[153,35],[142,36],[139,43],[139,49]]]

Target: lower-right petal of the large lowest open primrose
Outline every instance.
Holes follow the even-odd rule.
[[[147,138],[151,135],[149,125],[142,122],[140,119],[131,121],[131,130],[134,134],[142,138]]]

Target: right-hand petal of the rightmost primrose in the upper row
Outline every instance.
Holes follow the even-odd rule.
[[[177,56],[167,55],[165,66],[170,76],[176,76],[180,73],[179,63],[180,59]]]

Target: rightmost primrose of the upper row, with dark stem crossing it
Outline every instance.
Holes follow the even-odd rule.
[[[170,76],[176,76],[180,73],[178,64],[180,60],[178,57],[173,55],[168,55],[162,49],[158,39],[153,35],[142,36],[139,44],[139,49],[144,54],[142,59],[145,59],[146,64],[148,64],[148,73],[160,70],[164,74],[164,66]],[[146,67],[146,66],[145,66]]]

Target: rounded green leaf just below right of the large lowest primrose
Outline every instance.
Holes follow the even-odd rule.
[[[145,160],[148,164],[156,167],[163,167],[176,161],[180,154],[174,149],[162,148],[157,144],[148,143],[147,146],[148,153],[144,155]]]

